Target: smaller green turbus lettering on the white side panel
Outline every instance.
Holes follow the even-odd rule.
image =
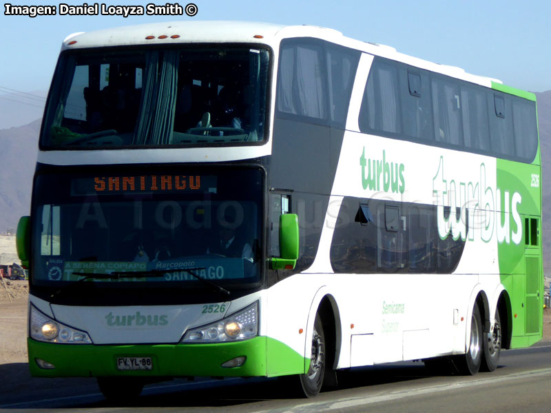
[[[404,193],[406,183],[404,180],[404,164],[397,162],[386,162],[386,153],[383,151],[381,159],[366,159],[366,148],[360,156],[362,166],[362,187],[370,191],[392,191],[393,193]],[[367,170],[366,170],[367,169]]]

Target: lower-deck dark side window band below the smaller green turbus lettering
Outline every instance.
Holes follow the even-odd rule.
[[[350,219],[366,205],[373,220]],[[331,243],[334,271],[453,273],[465,241],[461,237],[453,240],[451,235],[442,240],[436,214],[437,207],[433,205],[345,197]]]

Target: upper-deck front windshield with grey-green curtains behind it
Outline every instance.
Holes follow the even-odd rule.
[[[250,145],[264,139],[269,53],[251,47],[61,56],[45,149]]]

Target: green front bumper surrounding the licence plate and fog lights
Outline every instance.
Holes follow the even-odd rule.
[[[44,343],[27,339],[34,377],[251,377],[267,375],[267,338],[209,344],[102,345]],[[239,367],[223,363],[245,356]],[[120,359],[150,358],[150,370],[120,370]],[[37,359],[39,360],[37,362]],[[49,368],[41,368],[42,366]],[[50,366],[51,365],[51,366]]]

